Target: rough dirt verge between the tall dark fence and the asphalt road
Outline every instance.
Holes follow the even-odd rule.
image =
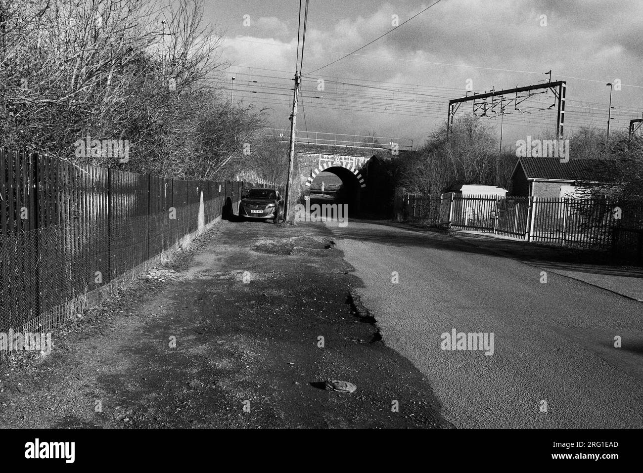
[[[217,224],[53,332],[50,355],[1,364],[0,427],[451,427],[350,296],[361,281],[328,235]],[[328,379],[357,390],[327,391]]]

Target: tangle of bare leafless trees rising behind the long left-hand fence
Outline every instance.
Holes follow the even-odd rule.
[[[203,5],[3,0],[0,145],[175,177],[225,172],[264,117],[230,111],[213,81],[226,64]],[[129,161],[77,156],[87,136],[129,141]]]

